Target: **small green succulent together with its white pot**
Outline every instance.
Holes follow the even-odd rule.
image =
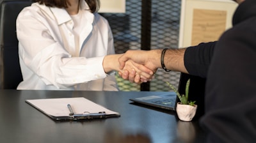
[[[169,82],[166,82],[168,86],[177,94],[180,102],[177,103],[176,112],[181,121],[191,121],[196,114],[197,105],[195,105],[195,101],[188,101],[188,92],[189,92],[189,83],[190,79],[188,79],[186,83],[186,91],[185,95],[180,94],[179,91]]]

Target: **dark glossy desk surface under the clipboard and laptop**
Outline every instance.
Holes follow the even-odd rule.
[[[136,105],[129,98],[156,92],[0,90],[0,142],[204,142],[198,121],[182,122],[175,112]],[[121,117],[53,121],[25,100],[83,96]]]

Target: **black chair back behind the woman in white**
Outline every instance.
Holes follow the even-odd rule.
[[[29,5],[29,0],[0,0],[0,89],[16,89],[22,81],[16,19],[19,12]]]

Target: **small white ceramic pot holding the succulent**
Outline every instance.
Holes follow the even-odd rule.
[[[196,114],[197,105],[183,105],[177,103],[176,112],[181,121],[191,121]]]

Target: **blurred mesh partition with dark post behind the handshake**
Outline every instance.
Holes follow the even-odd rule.
[[[100,13],[112,29],[116,54],[132,50],[178,48],[180,0],[126,0],[125,13]],[[170,91],[179,86],[179,72],[158,69],[155,79],[141,85],[116,75],[120,91]]]

